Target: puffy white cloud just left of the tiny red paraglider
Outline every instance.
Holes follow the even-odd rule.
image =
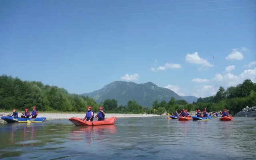
[[[206,67],[213,67],[213,64],[210,64],[207,60],[204,58],[200,58],[198,56],[198,52],[195,52],[193,54],[187,54],[186,55],[186,62],[192,63],[192,64],[200,64]]]

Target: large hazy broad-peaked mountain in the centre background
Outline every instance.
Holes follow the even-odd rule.
[[[183,99],[172,90],[158,87],[152,82],[136,84],[134,82],[114,81],[100,90],[82,95],[94,98],[97,103],[104,102],[106,99],[115,99],[118,101],[118,105],[126,105],[129,100],[136,100],[139,105],[149,107],[152,107],[154,100],[158,100],[160,103],[162,100],[169,102],[171,97],[174,97],[175,100]]]

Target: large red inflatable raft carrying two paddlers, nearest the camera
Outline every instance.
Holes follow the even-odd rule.
[[[110,117],[101,121],[86,121],[76,117],[69,118],[70,122],[74,123],[76,126],[98,126],[98,125],[114,124],[116,122],[116,119],[117,117]]]

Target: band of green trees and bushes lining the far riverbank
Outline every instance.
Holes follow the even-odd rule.
[[[204,108],[208,111],[219,111],[227,108],[231,114],[235,114],[245,106],[256,106],[256,83],[246,79],[236,87],[228,87],[226,90],[220,87],[216,95],[198,98],[197,102],[192,104],[172,97],[169,102],[163,100],[158,103],[155,100],[152,106],[141,106],[135,100],[118,106],[118,101],[115,99],[106,99],[98,104],[93,98],[70,94],[64,88],[44,85],[42,82],[22,81],[18,77],[0,76],[1,110],[13,108],[24,110],[32,106],[36,106],[41,112],[86,112],[88,106],[92,106],[92,109],[97,111],[99,106],[103,106],[108,113],[132,114],[163,114],[174,113],[175,110],[180,112],[182,109],[192,111]]]

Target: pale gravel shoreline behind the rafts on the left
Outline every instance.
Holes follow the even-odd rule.
[[[6,112],[0,112],[0,114],[10,114]],[[95,113],[97,114],[97,113]],[[22,113],[18,112],[18,116],[22,116]],[[77,118],[84,118],[85,113],[38,113],[38,117],[46,117],[46,120],[66,120],[70,117],[77,117]],[[156,114],[117,114],[117,113],[109,113],[106,114],[105,118],[110,117],[117,117],[117,118],[134,118],[134,117],[153,117],[153,116],[160,116]],[[98,118],[94,118],[94,120],[98,120]]]

